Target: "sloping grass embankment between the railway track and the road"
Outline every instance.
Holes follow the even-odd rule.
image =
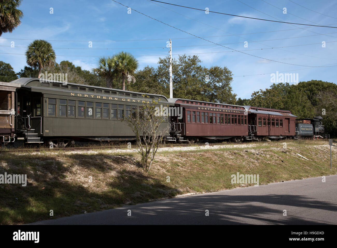
[[[149,173],[139,167],[137,153],[3,153],[0,174],[27,174],[28,183],[0,184],[0,223],[29,223],[177,194],[231,189],[239,186],[231,184],[237,172],[259,174],[260,185],[337,173],[337,149],[333,148],[330,169],[326,141],[288,141],[287,149],[279,142],[195,149],[158,152]]]

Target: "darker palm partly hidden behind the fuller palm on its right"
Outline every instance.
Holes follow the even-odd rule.
[[[93,68],[92,72],[105,78],[106,87],[112,88],[115,76],[115,60],[113,57],[101,57],[98,60],[98,67]]]

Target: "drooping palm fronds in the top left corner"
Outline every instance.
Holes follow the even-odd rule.
[[[0,36],[2,33],[12,32],[21,24],[23,13],[17,7],[22,0],[0,1]]]

